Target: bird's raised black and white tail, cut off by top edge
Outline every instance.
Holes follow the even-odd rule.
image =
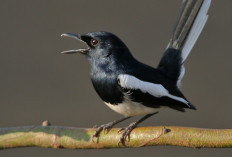
[[[166,73],[180,87],[184,76],[184,61],[200,36],[208,19],[211,0],[185,0],[177,24],[158,69]],[[174,54],[173,54],[174,53]],[[177,64],[173,67],[174,64]],[[176,68],[176,69],[174,69]],[[176,73],[173,75],[173,72]]]

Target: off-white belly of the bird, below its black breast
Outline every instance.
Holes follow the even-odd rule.
[[[142,104],[133,102],[129,99],[124,99],[124,101],[121,104],[117,104],[117,105],[112,105],[106,102],[105,104],[115,112],[122,114],[124,116],[146,115],[160,110],[160,108],[151,108],[151,107],[143,106]]]

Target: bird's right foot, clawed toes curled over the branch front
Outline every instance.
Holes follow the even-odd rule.
[[[133,122],[128,127],[121,128],[120,130],[118,130],[118,133],[122,133],[122,136],[120,137],[118,141],[118,146],[120,145],[120,143],[122,143],[122,145],[126,147],[126,139],[130,141],[130,133],[134,128],[136,128],[136,126],[137,126],[137,123]]]

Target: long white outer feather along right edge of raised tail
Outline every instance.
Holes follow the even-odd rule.
[[[211,0],[204,0],[198,15],[192,25],[192,28],[189,32],[189,35],[185,41],[185,44],[182,48],[182,63],[186,60],[188,57],[190,51],[192,50],[193,46],[195,45],[199,35],[201,34],[201,31],[203,30],[206,21],[208,19],[207,12],[209,10],[211,4]]]

